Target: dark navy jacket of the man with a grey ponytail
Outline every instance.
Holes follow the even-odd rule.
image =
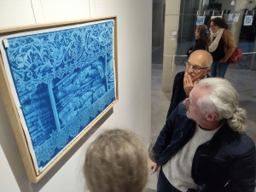
[[[195,133],[195,122],[186,116],[181,102],[166,120],[154,144],[154,161],[166,164]],[[232,131],[227,123],[195,151],[191,175],[199,191],[254,192],[256,152],[246,133]]]

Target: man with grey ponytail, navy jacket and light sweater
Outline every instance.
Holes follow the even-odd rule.
[[[166,120],[148,161],[157,192],[254,192],[256,150],[226,79],[201,79]]]

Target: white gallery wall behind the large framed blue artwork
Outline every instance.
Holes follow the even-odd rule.
[[[88,144],[105,128],[151,132],[151,22],[148,0],[0,0],[0,28],[117,15],[119,102],[96,133],[71,151],[37,184],[30,183],[0,96],[0,192],[89,191],[82,167]],[[110,170],[111,172],[111,170]]]

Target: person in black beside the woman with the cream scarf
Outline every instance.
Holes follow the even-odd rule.
[[[198,49],[203,49],[203,50],[207,50],[208,49],[208,35],[207,35],[207,26],[206,25],[200,25],[200,26],[196,26],[196,30],[195,30],[195,45],[192,46],[188,52],[188,58],[189,55]]]

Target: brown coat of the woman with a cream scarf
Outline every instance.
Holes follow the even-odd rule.
[[[236,40],[232,32],[230,30],[225,29],[222,34],[222,39],[224,41],[224,61],[228,61],[230,59],[230,56],[233,54],[233,52],[236,49]]]

